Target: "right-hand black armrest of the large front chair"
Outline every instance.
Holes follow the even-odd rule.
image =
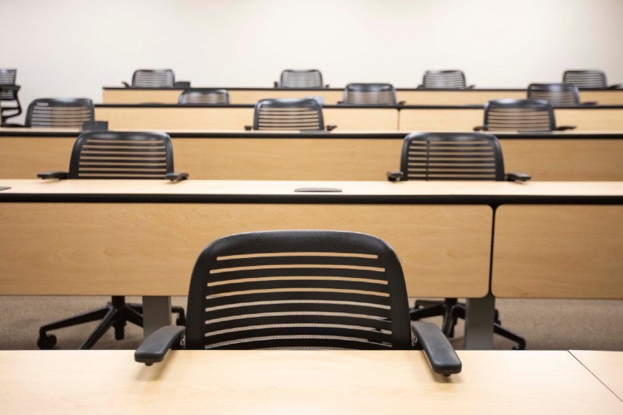
[[[428,364],[436,374],[450,376],[461,372],[461,360],[439,327],[429,322],[413,322],[411,328],[416,344],[422,346]]]

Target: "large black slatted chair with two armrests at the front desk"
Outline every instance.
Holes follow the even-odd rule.
[[[156,331],[136,350],[152,365],[186,349],[411,349],[408,299],[399,260],[368,234],[278,230],[234,234],[197,258],[186,329]],[[461,363],[437,326],[415,325],[433,371]]]

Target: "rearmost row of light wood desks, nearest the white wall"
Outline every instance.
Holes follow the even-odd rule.
[[[265,98],[321,97],[325,104],[334,105],[344,100],[343,89],[271,89],[271,88],[225,88],[232,104],[255,104]],[[102,92],[104,104],[177,104],[183,89],[118,88],[105,86]],[[425,90],[397,89],[397,102],[406,105],[470,105],[485,104],[489,100],[503,98],[526,98],[525,89],[462,89]],[[623,105],[623,89],[582,90],[580,102],[597,102],[599,105]]]

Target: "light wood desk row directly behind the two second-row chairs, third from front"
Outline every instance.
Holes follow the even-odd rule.
[[[77,130],[1,129],[0,177],[66,170]],[[399,169],[406,133],[168,131],[193,179],[377,181]],[[623,181],[623,132],[496,133],[507,172],[535,181]]]

